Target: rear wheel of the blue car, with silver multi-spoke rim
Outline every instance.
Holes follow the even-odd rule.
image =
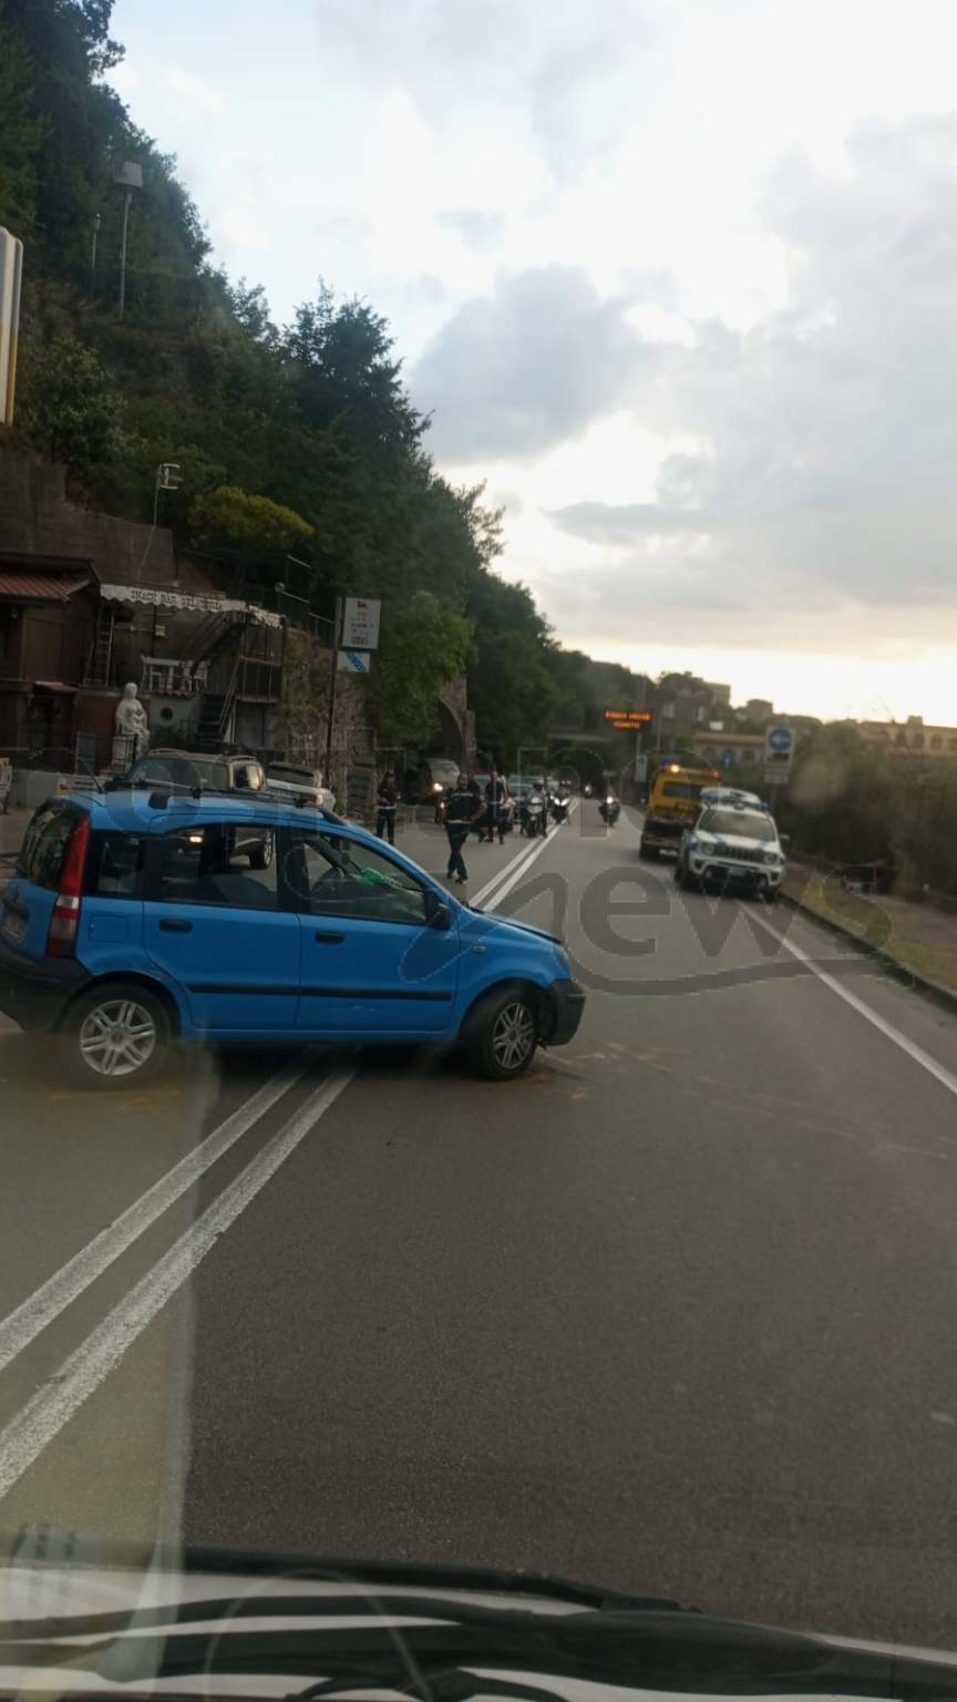
[[[140,1088],[162,1067],[169,1042],[170,1021],[155,994],[104,982],[68,1011],[60,1054],[85,1088]]]

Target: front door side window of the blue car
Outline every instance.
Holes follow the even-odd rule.
[[[293,902],[307,916],[426,921],[426,888],[398,863],[342,834],[298,832],[286,858]]]

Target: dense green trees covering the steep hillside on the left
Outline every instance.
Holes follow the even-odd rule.
[[[163,521],[182,540],[259,582],[291,550],[324,614],[342,592],[381,597],[375,703],[392,742],[427,742],[426,703],[453,665],[502,762],[543,744],[560,705],[591,715],[587,659],[564,662],[530,592],[496,574],[501,514],[436,471],[381,315],[320,283],[281,327],[259,284],[209,264],[175,158],[104,82],[123,51],[111,14],[112,0],[0,0],[0,223],[27,243],[20,439],[136,519],[157,466],[179,461]],[[143,189],[119,320],[126,160]]]

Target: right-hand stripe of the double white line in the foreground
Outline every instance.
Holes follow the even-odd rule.
[[[123,1360],[175,1290],[235,1224],[240,1212],[295,1152],[300,1140],[329,1111],[354,1069],[334,1071],[293,1117],[266,1142],[221,1195],[174,1241],[172,1248],[135,1288],[119,1300],[60,1370],[43,1384],[15,1418],[0,1431],[0,1498],[39,1459],[63,1426]]]

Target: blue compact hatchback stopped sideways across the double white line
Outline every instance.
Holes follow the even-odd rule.
[[[138,1086],[203,1040],[461,1042],[506,1081],[570,1040],[582,1004],[559,940],[276,797],[53,798],[0,897],[0,1011],[56,1035],[95,1088]]]

